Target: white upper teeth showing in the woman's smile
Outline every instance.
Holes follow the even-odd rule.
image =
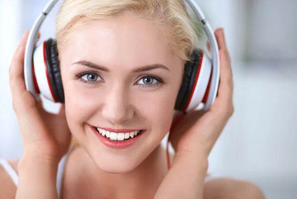
[[[135,130],[131,132],[111,132],[109,130],[104,130],[101,128],[96,128],[96,130],[105,138],[109,140],[114,140],[114,141],[125,141],[129,140],[133,137],[136,137],[140,134],[141,130]],[[114,130],[118,131],[118,130]],[[122,130],[125,131],[125,130]]]

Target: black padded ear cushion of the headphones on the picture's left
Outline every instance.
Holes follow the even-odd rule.
[[[57,102],[64,103],[64,89],[59,68],[56,41],[49,39],[46,43],[46,59],[50,85]]]

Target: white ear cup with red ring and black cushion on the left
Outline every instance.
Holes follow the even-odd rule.
[[[33,63],[37,82],[35,87],[47,99],[63,103],[64,90],[55,40],[46,40],[35,49]]]

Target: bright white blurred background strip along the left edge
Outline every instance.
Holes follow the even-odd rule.
[[[21,38],[19,0],[0,0],[0,157],[20,157],[22,140],[11,106],[8,68]]]

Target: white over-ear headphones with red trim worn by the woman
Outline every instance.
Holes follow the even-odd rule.
[[[59,69],[58,51],[53,39],[45,40],[37,48],[36,40],[44,19],[58,0],[49,0],[36,19],[27,41],[24,75],[27,90],[37,98],[39,94],[53,102],[64,102],[64,90]],[[185,64],[185,75],[175,104],[175,110],[195,109],[201,102],[208,111],[213,104],[219,84],[219,49],[214,32],[194,0],[184,0],[197,15],[210,42],[210,57],[197,49]]]

